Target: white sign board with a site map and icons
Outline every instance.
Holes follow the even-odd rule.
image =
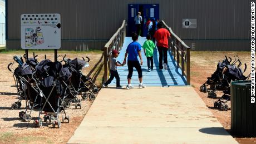
[[[21,48],[61,48],[60,14],[21,14]]]

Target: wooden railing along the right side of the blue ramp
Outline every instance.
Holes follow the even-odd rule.
[[[164,21],[161,21],[161,23],[163,23],[163,27],[168,29],[171,34],[171,38],[169,39],[171,54],[176,60],[177,66],[181,68],[182,75],[186,77],[187,85],[190,85],[190,47]]]

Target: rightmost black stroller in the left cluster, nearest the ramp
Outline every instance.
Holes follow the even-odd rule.
[[[66,55],[63,57],[63,61],[65,61],[65,65],[70,68],[70,71],[72,73],[71,83],[75,90],[81,94],[83,99],[87,100],[88,98],[89,100],[94,100],[95,94],[99,92],[99,89],[91,81],[91,78],[87,78],[82,73],[82,68],[89,66],[88,62],[90,61],[90,58],[86,57],[88,59],[88,61],[86,62],[85,58],[83,58],[83,60],[75,58],[71,61],[67,61],[65,57]]]

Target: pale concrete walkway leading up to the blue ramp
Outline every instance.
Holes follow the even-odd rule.
[[[68,143],[237,143],[192,87],[104,88]]]

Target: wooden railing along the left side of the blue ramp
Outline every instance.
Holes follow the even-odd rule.
[[[120,51],[126,36],[126,21],[122,22],[122,26],[117,29],[116,33],[110,38],[104,46],[104,82],[109,79],[110,63],[112,50]]]

